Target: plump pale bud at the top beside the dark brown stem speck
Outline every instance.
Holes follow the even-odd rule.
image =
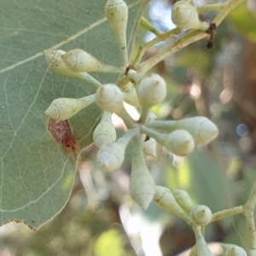
[[[195,7],[189,1],[180,0],[172,6],[172,22],[182,29],[206,31],[210,23],[199,20]]]

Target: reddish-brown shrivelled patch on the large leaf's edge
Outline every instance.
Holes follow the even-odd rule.
[[[68,120],[48,120],[48,131],[55,142],[62,146],[67,154],[79,153],[79,141],[73,138]]]

